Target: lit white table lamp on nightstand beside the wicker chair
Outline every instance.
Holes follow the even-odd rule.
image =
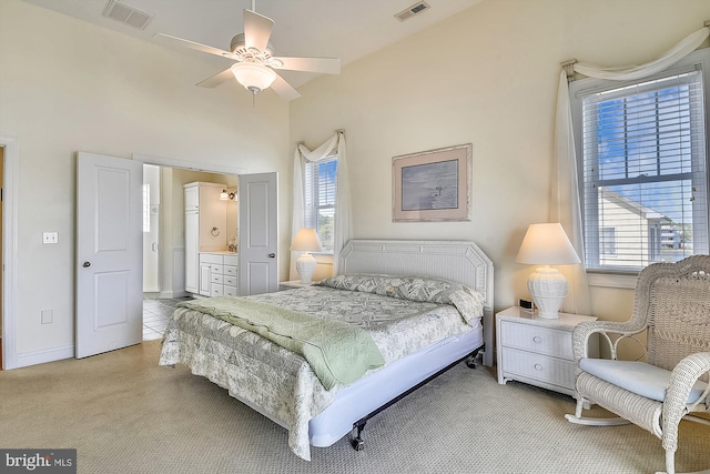
[[[567,296],[567,279],[549,265],[580,263],[562,226],[558,222],[530,224],[515,261],[542,265],[528,278],[528,291],[538,307],[539,317],[559,317],[559,309]]]

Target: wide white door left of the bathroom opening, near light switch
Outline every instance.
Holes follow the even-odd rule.
[[[143,163],[79,153],[77,357],[143,337]]]

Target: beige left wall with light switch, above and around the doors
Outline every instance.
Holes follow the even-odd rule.
[[[0,1],[0,134],[20,150],[19,360],[73,351],[78,151],[278,172],[280,225],[290,233],[288,104],[268,91],[252,107],[235,83],[194,85],[215,72],[150,42]],[[59,232],[59,244],[42,245],[43,231]],[[287,239],[280,244],[287,254]],[[40,324],[42,310],[53,311],[52,324]]]

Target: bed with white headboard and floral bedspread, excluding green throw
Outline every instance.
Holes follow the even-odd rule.
[[[201,299],[175,310],[160,365],[184,364],[286,427],[290,448],[304,460],[311,446],[351,432],[362,448],[371,416],[450,366],[470,366],[477,355],[493,364],[493,263],[473,242],[353,240],[341,253],[339,274],[322,284],[237,300],[357,326],[382,355],[381,363],[374,355],[363,362],[354,382],[327,377],[307,354],[258,333],[258,323],[235,324],[222,306],[233,301]],[[357,365],[365,355],[353,354],[366,351],[352,351]]]

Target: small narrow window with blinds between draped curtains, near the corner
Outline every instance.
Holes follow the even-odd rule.
[[[306,228],[315,229],[325,253],[333,253],[337,155],[307,161],[304,177]]]

